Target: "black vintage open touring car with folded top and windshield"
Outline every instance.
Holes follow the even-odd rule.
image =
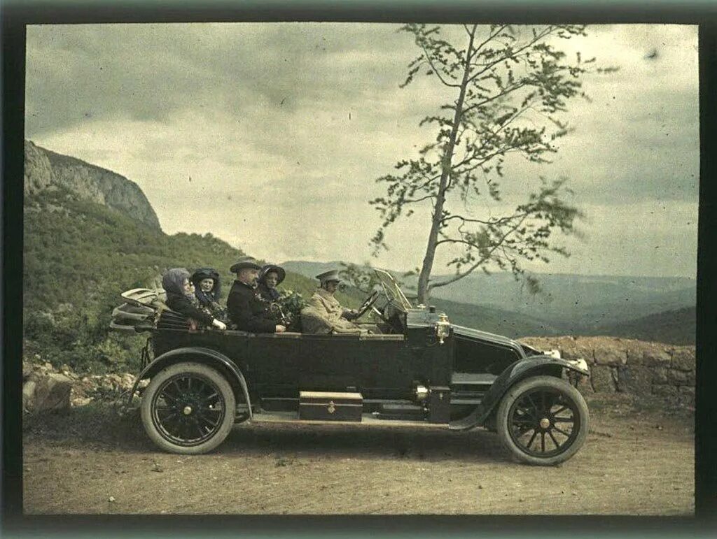
[[[533,465],[579,450],[589,428],[576,389],[589,376],[584,360],[451,324],[412,306],[389,273],[376,276],[382,290],[359,312],[378,314],[382,334],[196,330],[163,291],[123,293],[111,326],[151,332],[128,404],[141,390],[148,436],[186,455],[213,450],[244,421],[484,427]]]

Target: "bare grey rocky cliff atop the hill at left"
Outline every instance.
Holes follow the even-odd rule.
[[[25,193],[40,193],[57,187],[120,210],[151,228],[161,230],[156,213],[133,181],[111,170],[45,150],[25,140]]]

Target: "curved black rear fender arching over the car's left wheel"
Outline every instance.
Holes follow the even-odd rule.
[[[247,387],[246,379],[244,379],[244,374],[242,374],[234,361],[221,352],[212,350],[211,348],[203,348],[199,346],[176,348],[156,357],[156,359],[142,369],[142,372],[138,375],[127,399],[127,404],[129,405],[132,403],[132,398],[141,380],[151,378],[162,369],[184,361],[192,361],[194,363],[209,365],[224,374],[224,377],[227,378],[227,382],[229,382],[229,385],[231,385],[232,389],[234,389],[234,395],[237,397],[237,402],[240,402],[241,397],[244,397],[244,402],[247,403],[247,408],[249,409],[249,418],[251,419],[252,403],[249,399],[249,388]]]

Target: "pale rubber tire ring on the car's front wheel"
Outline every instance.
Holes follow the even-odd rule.
[[[513,406],[513,402],[516,402],[516,399],[518,399],[526,391],[537,389],[539,387],[559,389],[566,397],[575,403],[580,417],[580,429],[573,444],[559,455],[547,458],[527,455],[516,445],[515,442],[513,442],[511,434],[508,433],[508,412],[510,411],[511,406]],[[518,458],[518,460],[521,460],[521,462],[526,462],[527,464],[536,466],[554,466],[560,464],[561,462],[565,462],[570,457],[575,455],[575,453],[578,452],[584,445],[590,427],[590,417],[587,404],[580,392],[564,379],[551,376],[531,377],[523,380],[522,382],[518,382],[511,387],[511,389],[508,389],[508,392],[503,395],[503,399],[501,399],[500,404],[498,405],[498,413],[495,416],[495,422],[498,429],[498,436],[500,436],[500,440],[503,442],[503,445],[505,445],[505,447],[507,447],[508,450],[510,450],[511,453]]]

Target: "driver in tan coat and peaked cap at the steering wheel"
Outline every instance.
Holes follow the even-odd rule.
[[[338,270],[327,271],[317,275],[319,288],[308,301],[308,305],[301,310],[301,326],[304,333],[355,333],[370,330],[380,333],[379,329],[371,324],[359,326],[351,320],[356,319],[356,309],[344,309],[338,299],[334,297],[341,278]]]

